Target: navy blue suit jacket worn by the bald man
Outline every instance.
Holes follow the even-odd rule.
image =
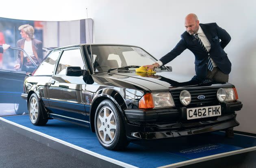
[[[180,55],[184,50],[189,49],[195,55],[195,73],[198,78],[206,78],[208,54],[210,54],[210,58],[213,59],[223,73],[229,74],[231,71],[231,62],[223,49],[230,42],[230,35],[216,23],[200,24],[200,26],[210,42],[211,49],[209,53],[202,48],[193,35],[185,31],[181,34],[181,40],[174,49],[160,58],[161,62],[165,65]]]

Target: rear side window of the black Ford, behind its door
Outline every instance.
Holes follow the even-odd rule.
[[[46,60],[38,67],[34,75],[52,75],[60,53],[61,51],[50,53]]]

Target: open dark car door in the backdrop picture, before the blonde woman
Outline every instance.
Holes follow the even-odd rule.
[[[0,103],[14,103],[16,114],[27,112],[26,101],[20,95],[23,93],[23,82],[26,72],[33,72],[37,67],[35,64],[26,67],[24,69],[26,71],[14,69],[14,66],[17,64],[17,53],[20,51],[24,52],[24,56],[30,59],[24,50],[17,47],[9,47],[3,53],[3,59],[0,62]]]

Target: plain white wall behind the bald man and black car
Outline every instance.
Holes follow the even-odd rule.
[[[156,58],[161,58],[180,40],[180,34],[185,30],[184,17],[188,13],[196,13],[201,23],[217,22],[232,37],[225,48],[232,62],[230,83],[236,86],[239,100],[244,105],[243,109],[237,112],[240,125],[235,129],[256,134],[256,1],[73,0],[61,1],[61,4],[58,4],[45,0],[40,9],[35,9],[31,3],[29,11],[24,10],[24,7],[30,3],[12,1],[5,3],[10,3],[12,8],[8,10],[7,7],[4,9],[6,11],[1,9],[1,17],[76,20],[87,18],[87,8],[88,17],[94,19],[95,43],[138,45]],[[11,3],[18,7],[13,7]],[[185,51],[168,65],[173,67],[174,72],[193,76],[193,62],[193,54]]]

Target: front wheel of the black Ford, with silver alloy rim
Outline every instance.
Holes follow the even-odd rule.
[[[129,144],[124,121],[115,104],[103,100],[95,114],[94,126],[100,144],[108,150],[122,150]]]

